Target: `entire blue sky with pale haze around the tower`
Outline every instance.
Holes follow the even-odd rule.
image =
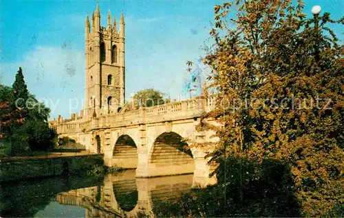
[[[101,24],[107,11],[119,20],[125,14],[126,97],[142,88],[156,88],[171,97],[185,95],[190,79],[186,60],[204,55],[213,21],[213,6],[223,1],[101,1]],[[343,0],[305,1],[343,16]],[[85,16],[96,1],[0,1],[1,83],[12,85],[19,66],[31,93],[47,99],[52,117],[69,117],[69,98],[84,97]],[[343,38],[343,27],[336,26]],[[185,97],[185,96],[184,96]],[[57,103],[57,104],[56,104]],[[54,108],[56,104],[56,108]],[[74,105],[78,112],[82,106]]]

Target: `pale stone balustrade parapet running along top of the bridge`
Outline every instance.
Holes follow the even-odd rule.
[[[208,97],[200,96],[150,108],[105,114],[102,117],[93,117],[92,119],[52,121],[50,125],[58,134],[69,134],[88,132],[100,128],[117,128],[142,123],[190,119],[200,117],[202,113],[213,110],[216,98],[217,94],[209,95]]]

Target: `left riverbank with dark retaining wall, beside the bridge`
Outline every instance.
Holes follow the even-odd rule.
[[[0,159],[0,182],[12,182],[62,175],[83,175],[87,171],[103,169],[102,154],[50,154],[32,157]]]

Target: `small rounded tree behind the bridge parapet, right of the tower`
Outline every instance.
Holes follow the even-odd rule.
[[[138,93],[133,96],[133,99],[136,101],[136,104],[143,107],[157,106],[169,102],[169,99],[164,99],[164,93],[159,90],[154,90],[153,88],[138,91]]]

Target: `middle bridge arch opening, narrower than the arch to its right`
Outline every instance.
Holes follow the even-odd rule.
[[[138,166],[138,147],[131,136],[124,134],[118,137],[112,152],[112,165],[126,169]]]

